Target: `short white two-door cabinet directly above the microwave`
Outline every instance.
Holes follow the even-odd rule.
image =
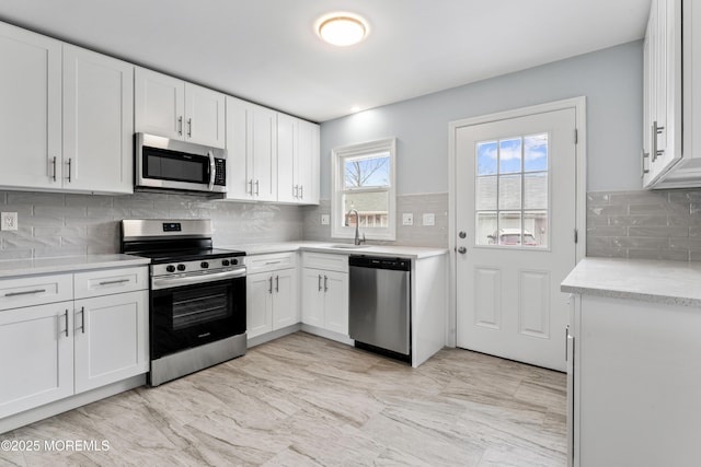
[[[225,148],[225,95],[143,68],[136,69],[137,132]]]

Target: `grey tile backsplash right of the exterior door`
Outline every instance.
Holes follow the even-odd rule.
[[[701,189],[589,192],[587,256],[701,260]]]

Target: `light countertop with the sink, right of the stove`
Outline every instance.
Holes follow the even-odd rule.
[[[334,245],[347,245],[349,248],[341,248]],[[266,253],[281,252],[322,252],[345,255],[378,255],[378,256],[403,256],[407,258],[428,258],[432,256],[445,255],[447,248],[421,247],[421,246],[390,246],[390,245],[360,245],[355,247],[353,244],[344,243],[326,243],[326,242],[281,242],[281,243],[262,243],[249,245],[225,245],[217,246],[221,248],[241,249],[246,255],[263,255]]]

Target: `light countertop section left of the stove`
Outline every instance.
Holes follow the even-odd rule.
[[[118,254],[68,256],[61,258],[8,259],[0,260],[0,278],[76,272],[87,269],[145,266],[149,262],[151,262],[149,258]]]

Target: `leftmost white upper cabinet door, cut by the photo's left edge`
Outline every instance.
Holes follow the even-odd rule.
[[[60,187],[61,44],[0,24],[0,186]]]

